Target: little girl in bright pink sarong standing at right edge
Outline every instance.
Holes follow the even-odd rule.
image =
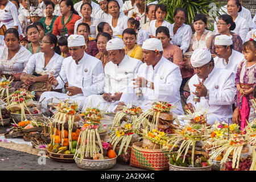
[[[241,118],[241,130],[247,125],[246,120],[249,119],[251,107],[250,100],[253,98],[253,89],[256,85],[256,39],[245,42],[242,46],[242,53],[246,60],[242,61],[237,68],[235,80],[237,108],[233,114],[233,122],[238,123],[238,118]]]

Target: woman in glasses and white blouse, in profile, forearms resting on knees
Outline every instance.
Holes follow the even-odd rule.
[[[45,85],[48,77],[59,75],[63,57],[59,55],[60,48],[57,47],[57,38],[49,33],[43,37],[39,53],[35,53],[30,57],[26,68],[20,75],[20,80],[24,82],[29,90],[46,89],[51,90],[51,86],[47,88]],[[35,85],[36,82],[44,82],[43,85]],[[39,92],[40,94],[42,92]],[[39,94],[39,97],[40,97]],[[36,92],[37,95],[37,92]]]

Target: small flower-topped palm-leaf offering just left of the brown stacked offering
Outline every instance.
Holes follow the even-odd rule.
[[[139,123],[137,122],[138,115],[142,113],[141,107],[137,106],[123,106],[122,110],[115,114],[114,122],[112,127],[119,126],[123,121],[131,123],[134,127],[137,127]],[[130,118],[130,121],[129,121]]]

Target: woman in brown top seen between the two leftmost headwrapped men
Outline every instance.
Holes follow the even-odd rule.
[[[109,61],[111,61],[109,57],[109,53],[106,50],[106,44],[110,39],[112,39],[111,35],[109,35],[106,32],[102,32],[97,35],[97,48],[99,52],[95,57],[101,60],[103,68],[107,63],[109,63]]]

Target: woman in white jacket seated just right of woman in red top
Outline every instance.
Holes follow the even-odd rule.
[[[100,23],[100,19],[90,16],[92,14],[92,5],[89,3],[83,3],[81,6],[81,14],[82,18],[77,20],[75,23],[74,34],[77,34],[76,29],[78,24],[87,23],[90,26],[90,38],[95,39],[97,35],[96,27]]]

